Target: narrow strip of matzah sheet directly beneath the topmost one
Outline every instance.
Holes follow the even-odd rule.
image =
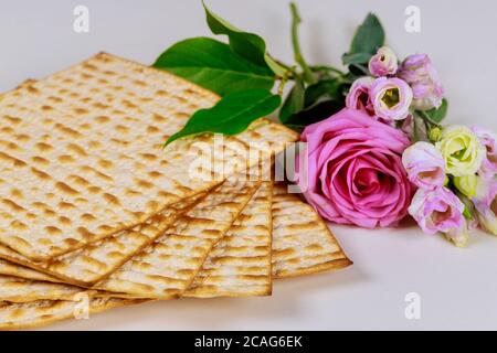
[[[204,196],[205,194],[200,193],[177,202],[130,231],[123,231],[114,236],[87,244],[83,248],[55,257],[49,263],[31,261],[1,245],[0,257],[55,276],[65,282],[92,286],[149,245]]]

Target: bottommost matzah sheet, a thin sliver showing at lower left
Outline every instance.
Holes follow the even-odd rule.
[[[130,306],[144,300],[120,298],[91,298],[88,313]],[[20,330],[47,325],[50,323],[84,315],[83,302],[65,300],[38,300],[12,303],[0,301],[0,330]],[[89,317],[91,319],[91,317]]]

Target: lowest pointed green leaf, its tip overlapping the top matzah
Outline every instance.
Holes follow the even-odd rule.
[[[266,89],[236,92],[224,96],[210,109],[197,110],[180,131],[172,135],[166,146],[172,141],[201,132],[236,135],[248,125],[276,110],[282,98]]]

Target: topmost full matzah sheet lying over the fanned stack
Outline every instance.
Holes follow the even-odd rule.
[[[266,119],[213,143],[166,138],[214,94],[109,54],[0,97],[0,243],[46,260],[145,222],[166,205],[278,152],[297,135]],[[204,178],[189,178],[198,142],[213,146]],[[231,142],[231,143],[229,143]],[[224,154],[223,154],[224,152]],[[226,163],[228,162],[228,163]]]

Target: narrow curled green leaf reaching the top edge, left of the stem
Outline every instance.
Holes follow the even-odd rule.
[[[230,46],[233,52],[256,65],[268,67],[278,76],[284,75],[286,68],[276,63],[266,53],[266,43],[261,36],[255,33],[248,33],[237,29],[212,12],[205,6],[205,2],[202,1],[202,3],[205,9],[207,22],[212,33],[228,35]]]

